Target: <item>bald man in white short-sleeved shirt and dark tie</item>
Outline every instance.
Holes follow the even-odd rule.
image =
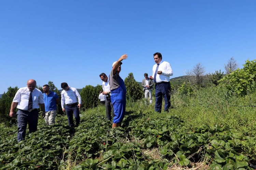
[[[33,79],[27,81],[27,87],[19,88],[16,92],[10,109],[10,117],[15,116],[17,106],[18,142],[25,139],[28,124],[29,133],[37,131],[39,104],[43,117],[45,117],[44,99],[42,92],[35,88],[37,82]]]

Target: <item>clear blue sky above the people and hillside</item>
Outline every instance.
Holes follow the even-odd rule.
[[[255,60],[255,0],[0,1],[0,94],[8,87],[53,81],[71,87],[102,84],[122,54],[120,76],[141,82],[162,53],[173,76],[197,63],[205,73],[229,58]]]

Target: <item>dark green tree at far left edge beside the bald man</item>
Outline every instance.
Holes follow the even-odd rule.
[[[16,94],[16,92],[18,91],[18,87],[9,87],[8,91],[2,95],[1,99],[0,99],[0,122],[5,122],[6,121],[10,121],[11,117],[9,116],[10,113],[10,108],[11,108],[11,104],[13,101],[13,98]],[[16,119],[12,119],[13,121],[15,121]]]

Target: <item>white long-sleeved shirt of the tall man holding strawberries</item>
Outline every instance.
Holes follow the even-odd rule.
[[[153,66],[153,76],[155,75],[156,67],[157,64]],[[156,83],[170,81],[170,76],[173,75],[170,63],[161,61],[158,66],[158,71],[162,71],[162,74],[156,74]]]

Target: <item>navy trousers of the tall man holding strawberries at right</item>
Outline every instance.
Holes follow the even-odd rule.
[[[156,112],[162,111],[162,99],[165,100],[165,111],[168,112],[168,109],[171,106],[170,92],[171,92],[170,82],[155,84],[155,96],[156,96],[155,111]]]

